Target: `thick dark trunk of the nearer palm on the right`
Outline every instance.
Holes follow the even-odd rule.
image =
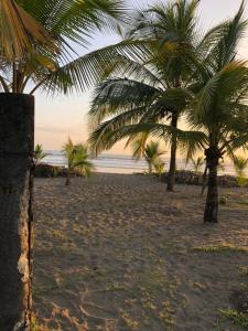
[[[219,152],[217,148],[209,148],[205,151],[208,168],[207,197],[204,212],[205,223],[218,222],[218,160]]]

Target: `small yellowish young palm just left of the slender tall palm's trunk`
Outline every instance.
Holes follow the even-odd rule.
[[[140,140],[137,140],[133,146],[133,154],[132,157],[137,160],[140,159],[140,149],[142,157],[144,158],[145,162],[148,163],[149,173],[152,173],[152,170],[154,169],[158,171],[160,164],[162,163],[161,156],[163,152],[160,150],[160,146],[158,141],[150,141],[147,143],[147,146],[143,148]]]

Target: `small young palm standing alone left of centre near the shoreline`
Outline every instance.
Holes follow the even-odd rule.
[[[68,138],[63,147],[63,152],[67,160],[67,175],[65,185],[71,183],[71,174],[73,171],[78,171],[82,175],[89,177],[94,164],[88,161],[88,148],[84,143],[74,145],[72,139]]]

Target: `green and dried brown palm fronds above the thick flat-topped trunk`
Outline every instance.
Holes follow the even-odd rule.
[[[34,0],[18,3],[1,2],[2,24],[7,22],[4,26],[8,26],[1,29],[0,46],[4,60],[4,65],[0,66],[0,82],[4,92],[85,90],[97,75],[103,74],[97,63],[106,60],[110,50],[103,50],[101,57],[95,52],[78,56],[71,44],[85,46],[95,30],[114,26],[116,19],[125,17],[122,1]]]

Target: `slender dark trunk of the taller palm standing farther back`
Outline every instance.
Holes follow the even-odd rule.
[[[177,114],[172,114],[171,126],[177,128]],[[168,191],[173,192],[175,184],[175,170],[176,170],[176,137],[173,135],[171,140],[171,159],[170,169],[168,173]]]

